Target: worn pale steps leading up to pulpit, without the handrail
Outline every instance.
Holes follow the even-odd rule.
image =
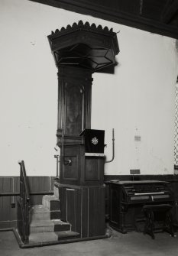
[[[79,238],[69,222],[60,220],[60,199],[43,196],[42,205],[33,206],[29,215],[29,244]]]

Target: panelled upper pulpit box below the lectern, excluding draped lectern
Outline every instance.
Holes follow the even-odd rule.
[[[104,157],[86,157],[83,144],[68,144],[63,148],[64,157],[61,157],[60,161],[60,183],[87,186],[103,184]],[[71,160],[71,163],[67,164],[67,160]]]

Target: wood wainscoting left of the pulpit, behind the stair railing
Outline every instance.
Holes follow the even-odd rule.
[[[41,204],[42,193],[53,191],[54,177],[28,177],[31,204]],[[17,225],[19,177],[0,177],[0,229]]]

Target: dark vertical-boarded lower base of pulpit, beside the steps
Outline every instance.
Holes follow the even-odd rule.
[[[105,187],[55,184],[60,189],[61,219],[81,238],[105,235]]]

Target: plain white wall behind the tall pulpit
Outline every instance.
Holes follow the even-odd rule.
[[[0,176],[56,173],[57,68],[47,35],[80,19],[118,33],[115,75],[94,74],[92,128],[105,129],[106,174],[173,173],[176,41],[27,0],[0,2]],[[134,136],[141,141],[134,141]]]

